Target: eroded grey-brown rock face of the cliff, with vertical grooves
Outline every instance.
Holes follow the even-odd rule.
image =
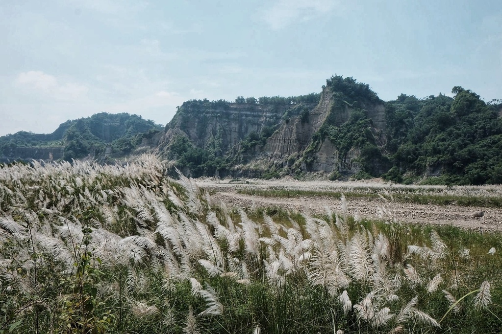
[[[156,151],[176,159],[170,152],[185,138],[200,149],[216,147],[216,156],[232,160],[227,173],[233,176],[256,176],[257,169],[351,175],[361,169],[361,147],[338,137],[352,131],[350,124],[359,115],[367,123],[357,123],[365,126],[364,140],[379,147],[386,129],[385,108],[378,98],[350,102],[335,93],[323,87],[316,103],[289,105],[188,101],[166,126]]]

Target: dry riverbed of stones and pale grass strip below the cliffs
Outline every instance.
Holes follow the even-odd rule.
[[[230,180],[219,179],[197,179],[199,187],[209,190],[215,201],[222,201],[228,206],[240,206],[242,208],[270,207],[311,212],[313,214],[323,214],[326,208],[333,212],[343,212],[342,201],[332,196],[297,196],[297,197],[263,197],[238,193],[241,189],[271,189],[277,187],[290,187],[289,189],[310,190],[310,191],[350,191],[350,189],[367,187],[368,189],[381,189],[386,199],[375,197],[348,198],[347,213],[358,215],[361,218],[378,219],[384,218],[397,220],[403,223],[412,224],[449,224],[467,229],[497,230],[502,231],[502,208],[498,207],[465,207],[457,205],[434,205],[434,204],[410,204],[400,203],[390,199],[389,194],[399,192],[406,187],[417,188],[417,191],[434,191],[434,193],[451,193],[459,195],[472,194],[480,196],[483,193],[498,193],[499,186],[482,187],[456,187],[447,188],[443,186],[417,187],[391,185],[390,183],[376,180],[373,182],[330,182],[311,181],[301,182],[296,180],[243,180],[231,182]],[[246,183],[247,182],[247,183]],[[432,188],[432,190],[431,190]],[[425,190],[424,190],[425,189]],[[484,211],[481,218],[473,217],[475,211]]]

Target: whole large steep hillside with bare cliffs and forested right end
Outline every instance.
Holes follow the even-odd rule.
[[[453,93],[384,102],[368,85],[334,76],[320,94],[192,100],[178,108],[156,151],[194,177],[320,172],[502,183],[502,104],[461,87]]]

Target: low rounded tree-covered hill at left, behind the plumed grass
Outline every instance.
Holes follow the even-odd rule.
[[[104,161],[123,157],[162,131],[153,121],[127,113],[99,113],[69,120],[51,134],[20,131],[0,137],[0,162],[31,159]]]

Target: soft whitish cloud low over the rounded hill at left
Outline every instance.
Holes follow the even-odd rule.
[[[84,85],[61,81],[42,71],[28,71],[20,73],[14,84],[29,94],[63,101],[81,99],[89,91]]]

